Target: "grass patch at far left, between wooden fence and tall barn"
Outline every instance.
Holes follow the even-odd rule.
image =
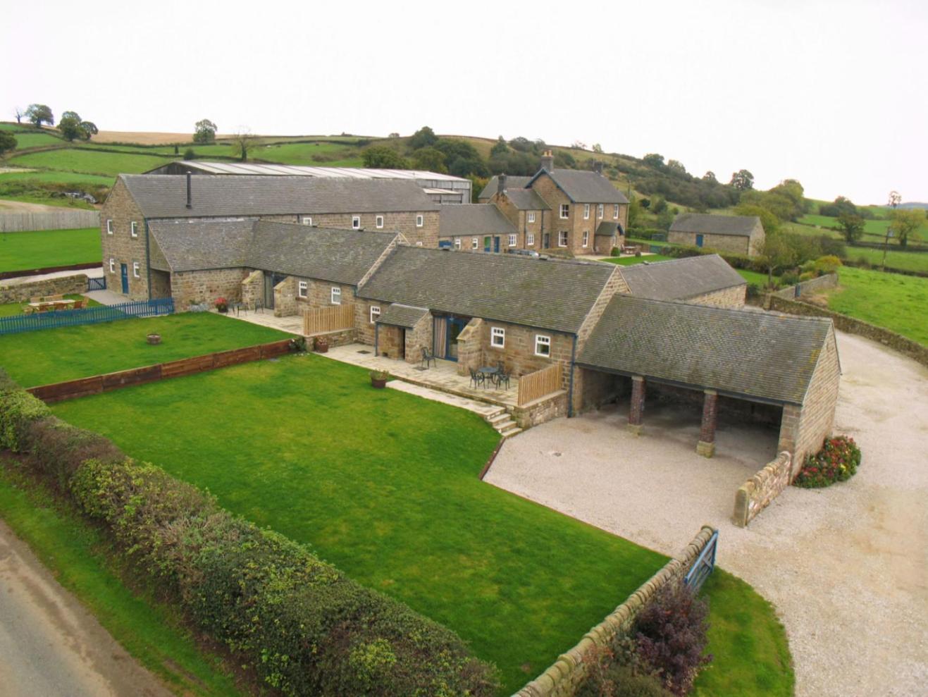
[[[100,228],[0,233],[0,271],[100,262]]]

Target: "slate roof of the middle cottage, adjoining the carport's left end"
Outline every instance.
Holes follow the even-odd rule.
[[[398,247],[358,296],[575,333],[612,265]]]

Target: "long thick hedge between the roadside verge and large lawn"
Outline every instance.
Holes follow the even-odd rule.
[[[54,416],[0,370],[0,446],[111,536],[187,620],[287,695],[495,694],[451,630]]]

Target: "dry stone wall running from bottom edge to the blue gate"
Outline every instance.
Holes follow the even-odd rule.
[[[682,580],[690,571],[690,566],[715,532],[714,527],[703,525],[676,558],[664,564],[599,625],[586,632],[574,648],[561,653],[553,665],[516,692],[514,697],[572,697],[586,678],[589,669],[586,659],[590,649],[608,647],[616,636],[628,632],[638,613],[661,588]]]

